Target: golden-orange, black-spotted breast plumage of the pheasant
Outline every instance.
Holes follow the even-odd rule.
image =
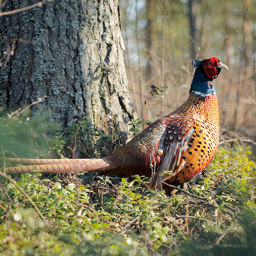
[[[193,104],[191,104],[192,102]],[[193,106],[193,108],[191,109],[189,106]],[[175,186],[179,186],[201,173],[212,161],[219,143],[219,114],[216,95],[203,98],[190,93],[188,100],[184,103],[184,106],[180,107],[179,112],[182,113],[180,114],[182,115],[182,122],[179,122],[177,129],[181,129],[177,131],[177,134],[184,138],[190,132],[187,147],[186,150],[178,148],[169,168],[172,173],[160,175],[161,181],[165,180],[166,183]],[[173,119],[168,118],[168,121],[171,124],[174,123]],[[183,124],[182,127],[180,127],[180,124]],[[173,137],[173,132],[171,137]],[[168,145],[176,139],[174,137],[170,140],[166,136],[165,144]],[[167,188],[167,186],[164,186],[164,188]]]

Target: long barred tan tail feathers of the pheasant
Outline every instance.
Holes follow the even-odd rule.
[[[6,167],[5,172],[11,173],[33,173],[40,170],[43,173],[64,173],[64,172],[90,172],[109,170],[115,168],[109,160],[104,158],[92,159],[21,159],[12,158],[11,162],[31,163],[35,165]],[[21,160],[21,161],[19,161]],[[59,161],[60,160],[60,161]],[[23,162],[24,161],[24,162]],[[1,170],[2,171],[2,170]]]

